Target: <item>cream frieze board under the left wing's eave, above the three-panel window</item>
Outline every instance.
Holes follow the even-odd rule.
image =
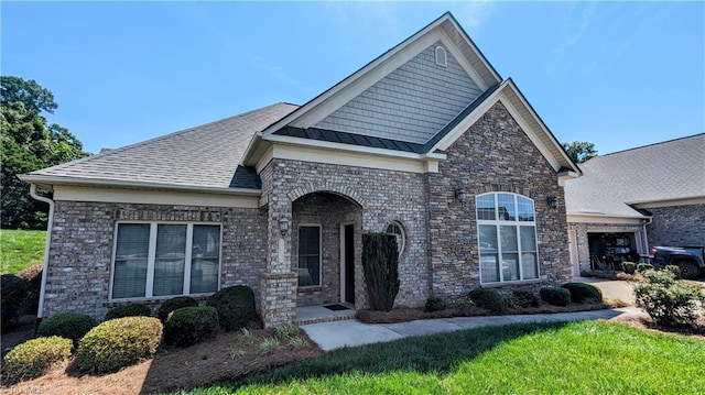
[[[56,185],[54,187],[54,200],[237,208],[259,207],[259,196],[75,185]]]

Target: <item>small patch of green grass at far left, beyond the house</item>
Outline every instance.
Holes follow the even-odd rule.
[[[2,273],[17,274],[26,266],[44,262],[46,232],[42,230],[0,230]]]

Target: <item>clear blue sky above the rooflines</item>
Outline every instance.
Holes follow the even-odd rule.
[[[303,105],[451,11],[558,141],[600,154],[705,132],[705,3],[8,2],[1,73],[85,150]]]

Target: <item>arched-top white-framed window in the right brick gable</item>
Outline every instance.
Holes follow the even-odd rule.
[[[492,193],[475,198],[480,282],[503,283],[539,278],[533,200]]]

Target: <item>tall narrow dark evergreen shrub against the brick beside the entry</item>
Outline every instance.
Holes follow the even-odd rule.
[[[391,310],[400,285],[397,237],[389,233],[362,234],[362,270],[372,310]]]

